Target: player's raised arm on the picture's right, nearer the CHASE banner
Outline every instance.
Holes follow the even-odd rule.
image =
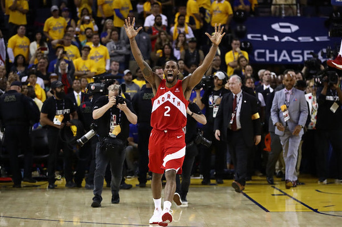
[[[187,91],[192,91],[192,89],[201,81],[203,75],[205,74],[205,72],[208,70],[210,64],[212,63],[218,45],[221,42],[222,37],[226,34],[225,32],[223,32],[224,27],[221,27],[221,24],[219,24],[219,26],[217,26],[215,24],[215,33],[214,35],[209,35],[208,32],[206,32],[205,34],[209,37],[210,41],[212,42],[212,46],[209,50],[209,53],[207,54],[207,56],[204,58],[202,65],[200,65],[191,76],[187,77],[184,82],[183,82],[183,91],[184,88]],[[222,33],[223,32],[223,33]]]

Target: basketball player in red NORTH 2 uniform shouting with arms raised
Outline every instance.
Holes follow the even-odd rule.
[[[136,63],[143,72],[144,78],[152,85],[152,115],[151,126],[153,127],[149,138],[149,163],[152,171],[152,196],[155,204],[153,216],[149,224],[167,226],[172,222],[170,212],[171,201],[176,190],[176,174],[182,173],[182,164],[185,156],[185,134],[183,128],[186,126],[186,108],[188,99],[194,86],[197,85],[202,76],[209,68],[215,56],[218,45],[225,33],[221,24],[215,25],[215,32],[206,35],[212,42],[209,53],[191,76],[183,81],[177,80],[179,66],[175,61],[168,61],[164,67],[165,79],[160,79],[144,58],[136,44],[135,36],[142,27],[134,29],[135,18],[125,19],[125,30],[130,40],[131,50]],[[164,189],[164,204],[161,210],[161,177],[165,172],[166,185]]]

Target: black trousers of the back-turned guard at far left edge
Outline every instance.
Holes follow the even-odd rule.
[[[31,149],[31,141],[29,137],[29,126],[12,125],[5,127],[5,145],[10,156],[10,166],[12,172],[13,183],[21,184],[21,172],[19,168],[18,155],[21,150],[24,154],[24,177],[31,177],[31,167],[33,152]]]

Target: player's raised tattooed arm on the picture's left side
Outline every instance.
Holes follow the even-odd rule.
[[[133,17],[132,23],[131,23],[131,18],[128,17],[128,19],[125,19],[125,24],[123,25],[126,30],[127,37],[129,38],[131,51],[132,51],[132,54],[136,63],[138,64],[138,66],[140,67],[143,73],[145,80],[147,80],[151,85],[155,86],[156,84],[155,75],[153,74],[151,67],[144,61],[144,57],[135,41],[135,36],[139,33],[139,31],[143,27],[139,27],[138,29],[135,30],[134,22],[135,22],[135,17]]]

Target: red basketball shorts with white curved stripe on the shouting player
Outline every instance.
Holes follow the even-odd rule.
[[[148,143],[149,170],[162,174],[167,169],[175,169],[177,174],[181,174],[185,147],[183,130],[159,131],[152,129]]]

